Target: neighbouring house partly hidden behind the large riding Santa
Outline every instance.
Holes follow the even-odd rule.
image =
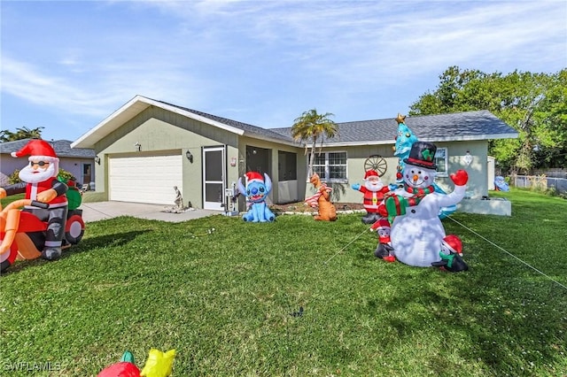
[[[8,176],[27,165],[27,158],[12,158],[30,139],[0,143],[0,186],[8,184]],[[89,148],[71,148],[69,140],[52,140],[51,146],[59,158],[59,168],[74,175],[77,186],[95,181],[95,151]],[[93,183],[94,185],[94,183]]]

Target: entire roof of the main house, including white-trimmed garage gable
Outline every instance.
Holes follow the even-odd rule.
[[[93,148],[96,142],[112,134],[113,131],[150,106],[158,106],[169,112],[197,119],[237,135],[298,145],[291,138],[291,127],[269,129],[256,127],[144,96],[135,96],[119,110],[113,112],[108,118],[73,142],[71,147]],[[420,140],[431,142],[508,139],[518,136],[514,128],[509,127],[488,111],[407,117],[405,123]],[[337,125],[338,135],[325,140],[323,146],[392,144],[395,142],[395,136],[398,132],[398,124],[395,119],[353,121],[337,123]]]

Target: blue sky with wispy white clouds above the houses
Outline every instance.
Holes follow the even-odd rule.
[[[75,141],[134,96],[254,126],[395,118],[453,65],[567,67],[567,2],[1,0],[1,129]]]

